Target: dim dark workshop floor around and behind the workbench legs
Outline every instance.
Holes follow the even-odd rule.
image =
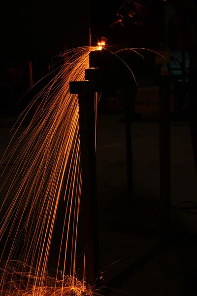
[[[132,124],[134,204],[129,209],[123,118],[122,114],[98,116],[102,284],[113,288],[107,290],[110,295],[197,295],[196,240],[181,235],[169,240],[160,231],[158,123]],[[1,155],[11,139],[13,120],[1,118]],[[171,124],[171,158],[172,205],[197,202],[197,176],[187,123]],[[196,235],[197,217],[173,209],[172,229]]]

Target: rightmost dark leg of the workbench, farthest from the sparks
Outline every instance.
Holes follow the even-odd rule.
[[[160,78],[160,199],[162,224],[165,230],[170,228],[171,220],[171,169],[170,169],[170,88],[167,77]]]

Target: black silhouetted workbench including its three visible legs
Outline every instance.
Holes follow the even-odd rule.
[[[136,62],[133,61],[133,64]],[[88,81],[70,82],[70,93],[79,95],[79,123],[82,168],[82,200],[85,246],[91,250],[86,254],[86,270],[89,285],[99,282],[99,236],[97,214],[97,174],[95,151],[94,93],[113,94],[122,91],[125,110],[128,203],[133,199],[131,120],[134,113],[135,81],[131,71],[113,53],[107,50],[90,53],[90,68],[85,71]],[[141,71],[141,73],[143,73]],[[137,73],[136,73],[137,74]],[[139,73],[138,73],[139,74]],[[160,192],[163,226],[170,226],[170,123],[169,123],[169,77],[156,76],[154,83],[160,85]],[[87,206],[88,205],[88,206]]]

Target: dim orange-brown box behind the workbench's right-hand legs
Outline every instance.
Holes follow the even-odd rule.
[[[170,86],[173,89],[173,85]],[[174,95],[170,93],[170,112],[174,111]],[[141,87],[135,96],[136,113],[159,112],[159,87]]]

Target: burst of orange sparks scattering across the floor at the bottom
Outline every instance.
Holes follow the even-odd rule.
[[[16,268],[17,266],[17,268]],[[23,271],[25,268],[26,272]],[[6,289],[1,290],[2,296],[93,296],[99,295],[99,290],[96,288],[90,288],[86,285],[84,280],[79,280],[77,276],[63,276],[60,274],[59,278],[52,278],[45,275],[45,281],[42,287],[35,287],[31,283],[34,277],[38,276],[36,270],[31,270],[31,274],[28,272],[30,266],[25,266],[23,263],[10,262],[9,272],[7,272],[7,283],[5,284]],[[17,276],[23,274],[24,278],[30,283],[29,287],[25,285],[25,282],[17,281]],[[15,280],[13,280],[15,278]]]

